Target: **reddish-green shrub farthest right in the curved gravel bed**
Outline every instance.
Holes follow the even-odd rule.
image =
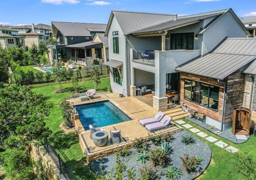
[[[196,160],[196,157],[189,157],[188,154],[184,154],[184,157],[180,156],[180,159],[182,160],[182,166],[184,167],[184,170],[187,172],[194,172],[200,164],[200,162]]]

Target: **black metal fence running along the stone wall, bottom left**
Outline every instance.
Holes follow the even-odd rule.
[[[58,154],[54,148],[52,147],[52,145],[49,142],[46,142],[46,144],[44,144],[44,148],[46,149],[46,151],[48,152],[48,154],[50,155],[50,157],[52,158],[52,160],[54,161],[54,164],[58,167],[58,169],[60,170],[60,173],[63,174],[63,176],[65,176],[65,178],[67,180],[79,180],[70,170],[70,168],[68,168],[68,166],[65,164],[65,162],[60,158],[60,154]]]

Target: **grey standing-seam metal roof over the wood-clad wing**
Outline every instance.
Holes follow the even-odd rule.
[[[256,59],[256,38],[227,38],[212,53],[176,67],[214,79],[224,79]]]

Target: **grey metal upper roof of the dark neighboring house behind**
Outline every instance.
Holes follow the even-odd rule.
[[[106,24],[76,23],[76,22],[52,22],[53,37],[56,38],[58,31],[64,36],[91,36],[88,29],[94,32],[105,32]]]

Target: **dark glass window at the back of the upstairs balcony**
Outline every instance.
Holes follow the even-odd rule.
[[[194,46],[194,33],[171,34],[171,49],[192,50]]]

